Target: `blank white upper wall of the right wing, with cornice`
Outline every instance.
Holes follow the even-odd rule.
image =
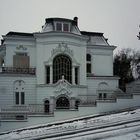
[[[100,76],[113,76],[113,49],[110,46],[91,46],[92,73]]]

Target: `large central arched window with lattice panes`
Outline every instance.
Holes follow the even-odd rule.
[[[72,83],[72,62],[66,55],[58,55],[53,60],[53,83],[64,78]]]

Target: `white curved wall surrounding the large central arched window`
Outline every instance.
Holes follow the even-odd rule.
[[[48,35],[48,36],[47,36]],[[62,34],[63,35],[63,34]],[[45,84],[45,64],[54,56],[51,51],[58,47],[59,43],[66,43],[67,47],[73,51],[73,61],[80,65],[80,85],[86,85],[86,41],[73,38],[71,36],[49,36],[37,38],[37,83]]]

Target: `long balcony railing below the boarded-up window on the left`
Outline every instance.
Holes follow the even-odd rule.
[[[31,74],[35,75],[36,68],[15,68],[15,67],[2,67],[2,74]]]

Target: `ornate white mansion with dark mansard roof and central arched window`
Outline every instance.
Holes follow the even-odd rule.
[[[1,119],[72,110],[82,116],[132,106],[120,103],[134,97],[118,89],[119,77],[113,75],[116,47],[103,33],[80,31],[77,17],[47,18],[41,32],[2,37]]]

